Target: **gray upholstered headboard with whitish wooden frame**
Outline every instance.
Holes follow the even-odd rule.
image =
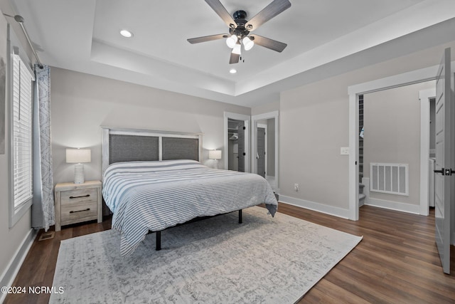
[[[102,172],[114,162],[202,161],[202,134],[102,127]]]

